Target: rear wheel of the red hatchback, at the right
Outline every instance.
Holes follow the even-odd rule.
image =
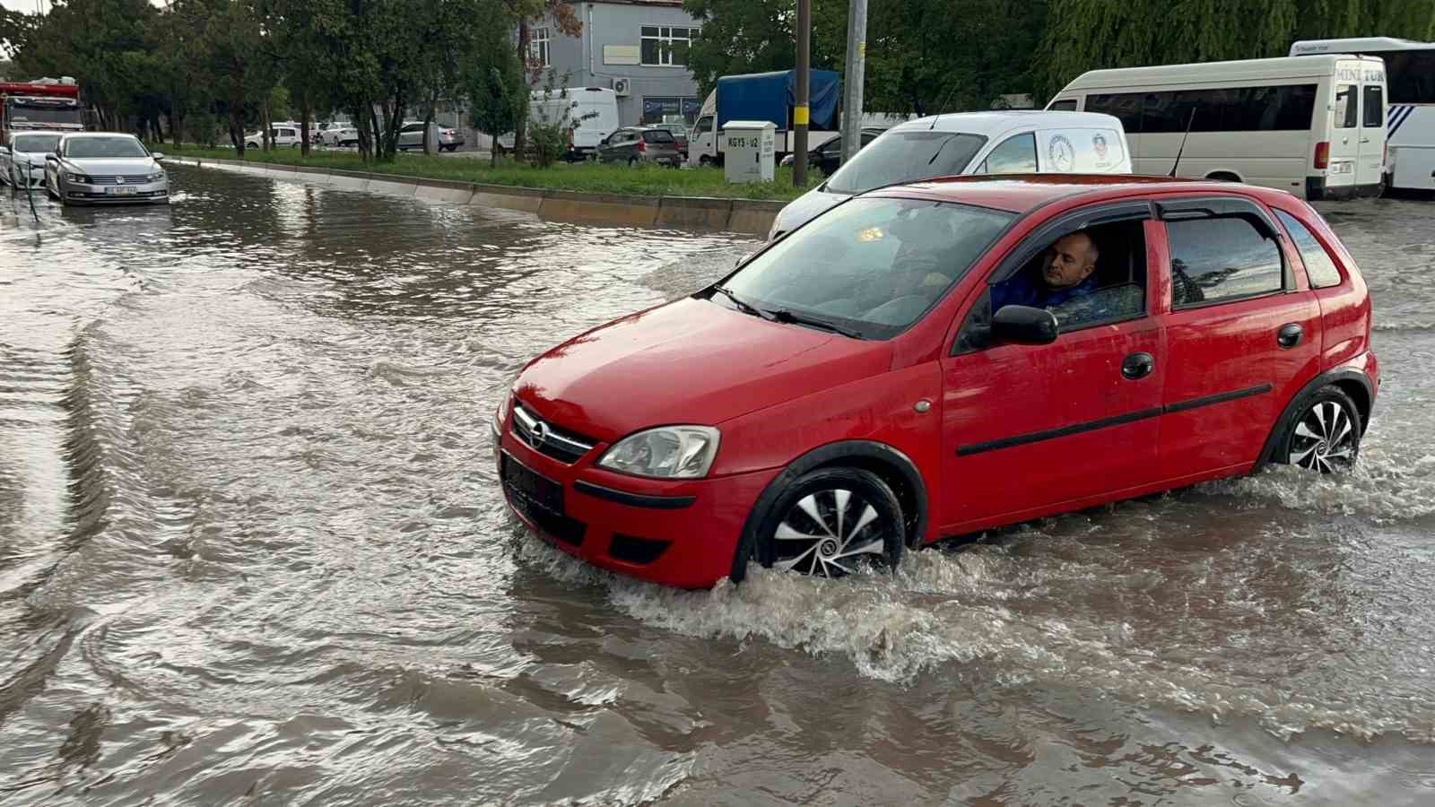
[[[1355,401],[1333,383],[1302,396],[1276,444],[1276,461],[1322,474],[1342,474],[1360,455],[1365,424]]]

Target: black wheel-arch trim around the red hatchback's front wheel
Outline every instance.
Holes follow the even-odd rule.
[[[781,474],[773,477],[768,487],[763,488],[762,495],[753,504],[752,510],[748,511],[748,520],[742,526],[742,537],[738,541],[738,551],[733,553],[732,559],[732,579],[740,582],[748,572],[748,560],[753,557],[753,550],[758,546],[758,527],[762,526],[776,503],[782,491],[788,488],[794,481],[817,468],[827,465],[852,465],[865,470],[881,470],[878,475],[883,477],[897,477],[905,485],[904,491],[897,493],[898,501],[905,505],[908,498],[913,504],[913,513],[903,513],[905,520],[907,546],[916,547],[921,543],[923,536],[927,534],[928,521],[928,498],[927,498],[927,484],[921,478],[921,471],[917,470],[917,464],[911,461],[910,457],[887,445],[885,442],[877,442],[871,439],[844,439],[838,442],[829,442],[808,451],[806,454],[798,457],[782,470]],[[908,494],[904,497],[903,494]]]

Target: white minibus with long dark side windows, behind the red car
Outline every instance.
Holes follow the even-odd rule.
[[[1307,200],[1380,188],[1386,95],[1379,59],[1091,70],[1046,108],[1121,118],[1138,174],[1170,174],[1180,151],[1181,177],[1266,185]]]

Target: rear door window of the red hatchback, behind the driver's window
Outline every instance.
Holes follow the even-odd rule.
[[[1172,304],[1178,309],[1279,291],[1280,246],[1236,217],[1167,221]]]

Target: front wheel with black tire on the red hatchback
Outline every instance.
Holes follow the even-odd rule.
[[[773,500],[755,541],[739,551],[763,567],[815,577],[841,577],[864,560],[894,570],[905,550],[904,524],[897,494],[878,475],[818,468]]]

